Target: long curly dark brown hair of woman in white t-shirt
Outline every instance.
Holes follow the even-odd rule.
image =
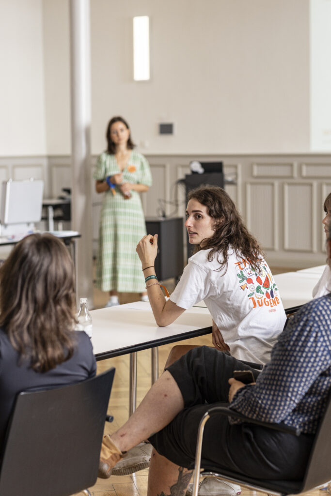
[[[264,256],[257,240],[249,233],[241,215],[236,209],[230,196],[219,186],[199,186],[189,191],[188,200],[195,198],[207,207],[210,217],[215,219],[215,234],[203,240],[203,247],[210,249],[208,261],[215,256],[220,263],[220,269],[227,269],[228,249],[233,248],[235,253],[249,259],[253,268],[259,271],[259,260]]]

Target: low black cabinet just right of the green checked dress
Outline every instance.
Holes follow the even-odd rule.
[[[147,217],[145,220],[147,234],[158,235],[155,259],[157,277],[161,281],[171,277],[179,278],[184,270],[182,217]]]

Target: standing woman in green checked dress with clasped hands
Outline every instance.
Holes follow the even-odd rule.
[[[99,222],[96,286],[109,291],[107,307],[119,305],[118,293],[141,293],[147,299],[144,276],[135,247],[146,234],[139,193],[152,184],[147,160],[133,150],[129,125],[113,117],[107,131],[107,151],[96,165],[97,193],[104,193]]]

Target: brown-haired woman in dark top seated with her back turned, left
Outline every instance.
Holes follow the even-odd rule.
[[[0,267],[0,449],[19,392],[95,375],[90,339],[75,324],[66,247],[51,234],[27,236]]]

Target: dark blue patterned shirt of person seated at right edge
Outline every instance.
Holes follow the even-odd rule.
[[[330,388],[331,293],[295,314],[256,384],[239,389],[229,407],[253,419],[284,422],[314,434]]]

